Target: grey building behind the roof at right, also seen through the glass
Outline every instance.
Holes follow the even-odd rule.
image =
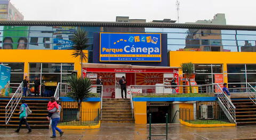
[[[226,25],[225,14],[216,14],[212,20],[198,20],[187,24]],[[223,51],[221,30],[189,29],[186,37],[186,47],[183,50]]]

